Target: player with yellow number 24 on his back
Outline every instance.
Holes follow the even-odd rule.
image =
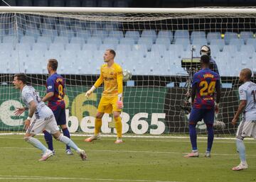
[[[184,157],[199,156],[196,144],[196,124],[202,119],[206,123],[208,131],[206,157],[210,157],[210,150],[213,145],[214,112],[218,112],[221,93],[220,76],[210,70],[210,57],[208,55],[201,56],[201,67],[202,69],[193,75],[191,91],[192,110],[189,116],[189,135],[191,138],[192,152]],[[217,93],[216,98],[214,98],[215,92]]]

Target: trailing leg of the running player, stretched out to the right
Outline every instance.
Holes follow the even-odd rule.
[[[55,118],[50,118],[49,121],[46,122],[46,130],[50,130],[50,133],[53,134],[53,137],[60,141],[63,142],[64,144],[68,145],[69,147],[75,149],[76,152],[78,152],[78,154],[80,154],[80,157],[82,158],[82,160],[86,159],[86,154],[85,151],[80,149],[75,142],[73,142],[72,140],[70,140],[70,138],[65,137],[62,133],[60,133],[60,130],[58,128],[58,125],[55,121]]]

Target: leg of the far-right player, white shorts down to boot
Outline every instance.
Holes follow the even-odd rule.
[[[254,126],[255,126],[254,122],[245,121],[245,120],[242,120],[242,122],[238,126],[235,143],[236,143],[237,151],[240,157],[240,164],[238,166],[233,167],[232,169],[233,171],[240,171],[242,169],[248,168],[246,157],[245,157],[245,144],[243,142],[243,139],[245,137],[250,137],[251,135],[254,135],[253,134]]]

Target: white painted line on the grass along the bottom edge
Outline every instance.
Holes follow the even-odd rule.
[[[13,180],[24,180],[24,179],[35,179],[35,180],[90,180],[90,181],[134,181],[134,182],[181,182],[181,181],[154,181],[154,180],[139,180],[139,179],[107,179],[107,178],[65,178],[65,177],[54,177],[54,176],[6,176],[0,175],[0,179],[13,179]]]

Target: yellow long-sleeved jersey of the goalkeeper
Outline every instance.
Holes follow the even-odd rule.
[[[97,88],[104,82],[103,96],[117,96],[122,93],[122,67],[115,63],[111,67],[107,64],[102,64],[100,68],[100,77],[95,82],[94,86]]]

